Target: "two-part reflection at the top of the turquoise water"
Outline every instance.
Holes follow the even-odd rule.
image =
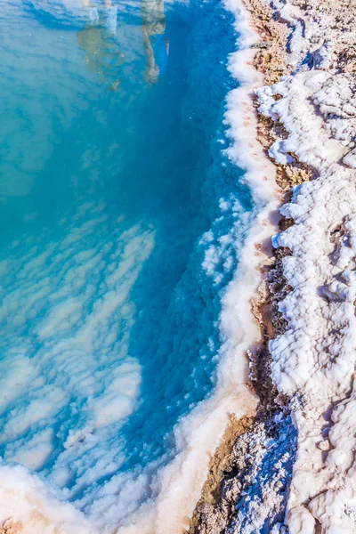
[[[103,4],[82,0],[87,23],[77,33],[77,42],[85,51],[85,65],[108,85],[110,91],[117,91],[123,81],[121,66],[125,54],[117,37],[117,5],[112,0]],[[169,41],[165,36],[166,17],[163,0],[141,0],[142,44],[146,61],[144,79],[151,85],[158,81],[159,74],[166,69]]]

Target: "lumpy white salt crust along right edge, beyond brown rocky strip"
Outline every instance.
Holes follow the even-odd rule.
[[[273,4],[291,27],[294,71],[257,91],[261,112],[281,121],[289,134],[272,145],[271,157],[284,163],[296,156],[320,174],[295,188],[291,203],[281,209],[295,224],[274,239],[276,247],[292,251],[283,266],[293,290],[280,303],[287,332],[270,344],[272,376],[279,391],[292,397],[298,432],[286,524],[290,534],[351,534],[356,531],[355,77],[333,66],[336,13],[323,18],[312,11],[315,3],[306,3],[309,12],[297,4]],[[352,28],[344,31],[347,37]]]

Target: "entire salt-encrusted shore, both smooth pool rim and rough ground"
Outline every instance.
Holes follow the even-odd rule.
[[[189,524],[210,451],[219,441],[191,533],[356,531],[356,6],[342,0],[271,5],[247,0],[246,6],[261,40],[255,43],[253,33],[245,36],[247,49],[235,61],[238,66],[240,58],[242,65],[237,76],[244,74],[244,61],[254,61],[251,44],[259,72],[254,78],[247,69],[245,87],[228,101],[231,131],[241,143],[242,134],[249,136],[231,157],[247,166],[267,211],[276,207],[274,198],[282,198],[281,233],[274,239],[273,258],[263,255],[263,247],[254,254],[256,243],[270,239],[273,228],[265,208],[260,233],[257,226],[244,256],[248,278],[235,280],[227,294],[225,328],[231,336],[219,388],[204,405],[207,411],[196,409],[176,431],[180,455],[156,482],[156,506],[127,530],[134,534],[173,534]],[[266,85],[255,92],[257,124],[249,117],[247,87],[255,86],[262,74]],[[236,106],[244,113],[234,117]],[[253,137],[275,169],[265,166]],[[245,156],[255,153],[255,163],[239,160],[239,150]],[[274,190],[274,174],[279,191]],[[255,393],[247,387],[241,356],[258,337],[243,313],[259,279],[258,262],[263,282],[253,312],[263,343],[249,352],[250,379],[260,400],[254,417]],[[231,425],[229,412],[236,413]],[[9,469],[2,470],[7,521],[0,532],[93,531],[81,514],[24,468],[19,467],[18,486],[13,487],[13,472],[5,477]]]

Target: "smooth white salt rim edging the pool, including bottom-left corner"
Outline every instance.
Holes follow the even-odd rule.
[[[233,142],[227,154],[246,171],[245,180],[261,209],[249,232],[239,271],[223,296],[221,329],[226,341],[220,352],[214,393],[176,425],[178,454],[151,481],[153,503],[143,505],[131,524],[117,530],[120,534],[178,534],[188,527],[206,481],[211,455],[223,438],[231,414],[238,418],[253,415],[258,402],[249,387],[246,358],[247,349],[260,337],[250,311],[251,299],[261,281],[263,252],[258,248],[276,231],[271,214],[279,203],[275,168],[255,138],[256,114],[251,93],[263,84],[263,76],[253,67],[255,52],[251,44],[260,39],[239,1],[227,0],[225,5],[235,15],[239,32],[239,51],[231,55],[230,70],[240,84],[227,97],[225,120]],[[1,522],[13,517],[24,525],[27,534],[49,534],[55,529],[66,534],[97,531],[84,514],[65,502],[60,490],[53,489],[25,467],[0,464],[0,480]],[[110,525],[104,531],[116,529]]]

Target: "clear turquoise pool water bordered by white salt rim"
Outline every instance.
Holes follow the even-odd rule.
[[[150,498],[134,481],[214,387],[253,216],[223,153],[231,19],[215,0],[0,5],[0,453],[99,524],[108,483],[116,525]]]

